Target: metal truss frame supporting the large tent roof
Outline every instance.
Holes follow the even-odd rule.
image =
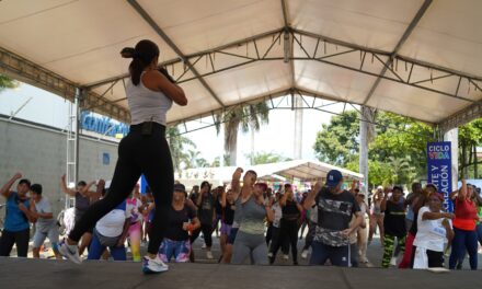
[[[184,55],[177,46],[171,41],[171,38],[156,24],[156,22],[147,14],[147,12],[138,4],[136,0],[127,0],[129,4],[144,18],[144,20],[160,35],[168,45],[177,54],[179,58],[164,61],[161,66],[165,67],[168,71],[174,77],[177,83],[184,83],[188,81],[199,81],[204,88],[209,92],[209,94],[220,104],[222,111],[229,109],[231,106],[226,106],[209,84],[204,80],[208,76],[236,69],[239,67],[244,67],[252,65],[257,61],[290,61],[291,62],[291,73],[292,73],[292,84],[288,90],[289,92],[301,91],[301,88],[297,88],[295,83],[295,73],[292,68],[294,61],[317,61],[322,65],[334,66],[351,71],[359,72],[363,74],[371,76],[377,78],[376,85],[372,86],[372,91],[377,88],[377,82],[381,80],[393,81],[402,83],[404,85],[410,85],[420,90],[429,91],[447,97],[452,97],[467,102],[467,108],[457,114],[444,119],[439,125],[441,129],[449,129],[450,127],[461,125],[473,118],[482,116],[481,100],[473,100],[467,96],[462,96],[460,93],[461,83],[463,88],[468,88],[474,91],[482,91],[482,77],[464,73],[461,71],[448,69],[445,67],[436,66],[433,63],[424,62],[416,59],[411,59],[398,55],[398,50],[406,37],[410,35],[413,27],[416,25],[417,21],[422,18],[423,13],[426,11],[431,4],[431,0],[425,0],[422,8],[420,9],[417,15],[414,18],[409,28],[405,31],[403,37],[399,41],[397,48],[393,51],[383,51],[379,49],[372,49],[363,47],[359,45],[342,42],[338,39],[333,39],[324,35],[319,35],[310,33],[302,30],[297,30],[290,26],[287,13],[287,7],[285,0],[282,1],[284,22],[285,26],[278,30],[262,33],[249,38],[232,42],[220,47],[213,49],[207,49],[192,55]],[[286,36],[288,36],[288,42],[286,42]],[[303,39],[309,38],[311,43],[315,43],[313,47],[307,47],[303,45]],[[261,42],[268,42],[269,45],[262,48],[259,44]],[[286,51],[286,46],[288,53]],[[285,54],[274,53],[274,47],[283,46],[280,49]],[[246,54],[233,53],[232,48],[244,48]],[[254,55],[249,54],[249,48],[254,47]],[[252,49],[251,49],[252,50]],[[278,50],[279,51],[279,50]],[[298,54],[295,54],[298,51]],[[343,62],[343,55],[355,54],[358,56],[359,62],[357,63],[346,63]],[[216,61],[216,55],[222,55],[225,59],[232,59],[231,65],[220,66],[219,61]],[[297,56],[295,56],[297,55]],[[382,66],[382,70],[379,73],[375,73],[366,68],[365,63],[367,61],[377,62]],[[385,60],[388,59],[388,60]],[[229,61],[227,61],[229,62]],[[404,69],[404,72],[399,72],[399,67]],[[426,76],[423,79],[412,79],[412,71],[418,69],[418,71],[425,71]],[[72,81],[65,79],[47,69],[44,69],[21,56],[18,56],[7,49],[0,47],[0,72],[13,76],[14,78],[31,83],[33,85],[46,89],[56,94],[62,95],[65,99],[72,101],[74,100],[74,93],[77,88],[81,88],[84,93],[80,102],[82,109],[90,109],[100,114],[108,115],[120,122],[129,122],[129,112],[118,105],[118,102],[125,101],[124,99],[118,99],[114,101],[108,101],[104,95],[111,91],[114,85],[119,85],[119,83],[125,84],[125,79],[127,74],[117,76],[114,78],[97,81],[95,83],[78,84]],[[435,76],[435,77],[434,77]],[[441,79],[455,79],[454,88],[441,88],[437,86],[437,81]],[[93,89],[106,86],[105,92],[102,94],[95,93]],[[286,92],[286,91],[284,91]],[[279,93],[272,93],[271,95],[278,95]],[[366,99],[360,103],[355,103],[359,105],[365,105],[372,93],[369,93]],[[319,97],[326,100],[333,99],[329,95],[318,94]],[[263,101],[267,96],[255,97],[256,102]],[[272,96],[274,97],[274,96]],[[251,101],[250,101],[251,102]],[[241,105],[241,104],[237,104]],[[174,122],[172,124],[177,124],[182,122],[188,122],[196,118],[203,118],[206,115],[213,115],[214,112],[206,112],[204,114],[193,116],[180,122]]]

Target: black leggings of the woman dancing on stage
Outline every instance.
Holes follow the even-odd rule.
[[[99,219],[124,201],[133,192],[140,175],[144,174],[156,203],[148,253],[159,252],[168,227],[168,211],[174,189],[174,172],[171,152],[165,140],[165,127],[152,123],[150,134],[142,130],[142,125],[130,126],[129,134],[118,146],[118,160],[107,194],[89,207],[70,232],[70,240],[78,242]]]

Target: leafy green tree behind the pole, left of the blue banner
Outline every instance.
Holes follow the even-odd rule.
[[[358,172],[359,122],[355,111],[332,117],[317,135],[314,150],[321,161]],[[376,137],[368,150],[368,182],[409,185],[426,178],[426,143],[434,129],[423,123],[391,113],[378,112]]]

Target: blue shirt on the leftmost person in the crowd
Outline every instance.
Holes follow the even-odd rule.
[[[23,203],[30,208],[30,200],[21,200],[16,192],[12,192],[7,199],[4,229],[9,232],[20,232],[30,228],[28,218],[19,209],[19,204]]]

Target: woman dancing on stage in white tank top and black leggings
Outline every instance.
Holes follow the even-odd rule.
[[[174,186],[171,152],[165,140],[165,114],[172,102],[184,106],[187,100],[165,69],[158,68],[159,47],[154,43],[140,41],[135,48],[124,48],[120,55],[133,58],[130,78],[126,83],[130,130],[119,143],[118,160],[107,195],[89,207],[60,246],[60,253],[80,263],[77,248],[79,239],[99,219],[124,201],[144,174],[152,189],[156,215],[142,270],[161,273],[168,270],[168,266],[159,258],[158,252],[168,226]]]

